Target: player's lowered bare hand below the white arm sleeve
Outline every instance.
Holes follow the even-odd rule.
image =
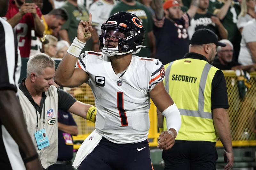
[[[163,131],[158,137],[159,141],[158,141],[157,148],[163,149],[163,150],[171,149],[172,146],[174,145],[175,137],[176,137],[175,129],[169,129],[169,130]]]

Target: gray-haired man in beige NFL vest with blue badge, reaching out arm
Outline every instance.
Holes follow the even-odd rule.
[[[54,74],[54,60],[39,53],[29,58],[27,77],[18,89],[27,129],[44,169],[54,164],[58,156],[58,108],[92,122],[96,115],[96,107],[77,101],[53,86]]]

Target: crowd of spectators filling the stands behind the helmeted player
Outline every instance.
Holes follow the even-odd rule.
[[[129,11],[140,18],[146,33],[143,45],[147,48],[142,48],[138,56],[157,58],[164,64],[181,59],[188,53],[193,33],[200,28],[208,28],[218,35],[219,40],[227,39],[231,42],[233,51],[230,62],[232,63],[226,62],[228,65],[237,63],[244,66],[256,62],[256,31],[253,28],[256,17],[255,0],[34,0],[31,1],[32,3],[27,2],[10,1],[5,16],[15,30],[21,57],[45,52],[51,57],[61,58],[57,55],[56,43],[58,41],[62,41],[62,45],[63,41],[67,44],[72,43],[80,20],[88,20],[89,12],[92,13],[94,31],[83,51],[100,52],[98,36],[101,34],[101,25],[110,15],[119,11]],[[48,6],[48,12],[44,9],[45,5]],[[49,8],[52,10],[49,11]],[[50,41],[54,38],[48,34],[56,37],[56,42],[52,44]],[[67,44],[64,46],[68,47]],[[231,46],[228,44],[228,47]],[[49,54],[49,50],[53,50],[52,54]]]

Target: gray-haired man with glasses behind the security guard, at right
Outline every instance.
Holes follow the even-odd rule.
[[[220,40],[220,42],[227,44],[226,47],[217,47],[217,57],[212,63],[213,66],[220,70],[245,70],[248,72],[255,71],[256,64],[244,65],[233,61],[234,48],[233,44],[226,39]]]

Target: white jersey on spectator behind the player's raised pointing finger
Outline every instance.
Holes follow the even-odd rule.
[[[113,0],[113,3],[114,4],[110,4],[107,1],[98,0],[89,8],[89,12],[92,13],[92,25],[97,29],[98,35],[101,35],[100,27],[108,20],[110,12],[116,5],[116,1]]]

